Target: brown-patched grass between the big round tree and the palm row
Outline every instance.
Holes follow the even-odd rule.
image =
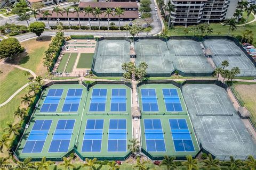
[[[32,70],[37,75],[43,78],[47,75],[46,67],[43,65],[43,58],[45,57],[45,50],[51,43],[51,37],[44,37],[43,40],[31,39],[21,43],[26,51],[21,53],[19,57],[14,58],[10,63],[17,64],[21,67]]]

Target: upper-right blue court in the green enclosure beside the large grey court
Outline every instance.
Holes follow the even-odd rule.
[[[182,112],[180,97],[177,89],[162,89],[165,101],[166,111]]]

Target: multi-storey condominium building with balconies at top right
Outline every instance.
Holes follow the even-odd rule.
[[[194,25],[201,22],[220,22],[233,16],[238,0],[170,0],[174,25]]]

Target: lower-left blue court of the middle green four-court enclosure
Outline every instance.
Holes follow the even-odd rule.
[[[82,152],[100,152],[103,135],[103,119],[87,120]]]

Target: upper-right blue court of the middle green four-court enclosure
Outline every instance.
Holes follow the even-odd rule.
[[[112,89],[111,112],[126,111],[126,89]]]

